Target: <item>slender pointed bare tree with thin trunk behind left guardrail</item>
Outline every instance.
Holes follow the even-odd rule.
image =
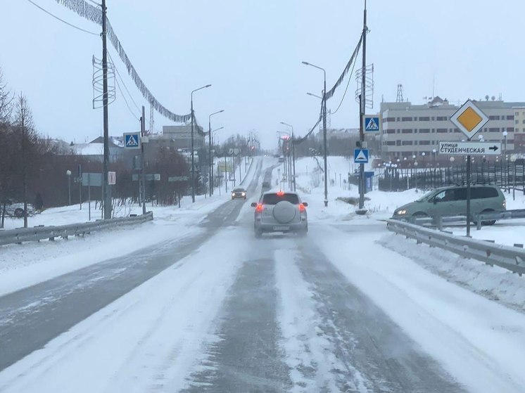
[[[20,129],[21,140],[21,167],[23,182],[23,202],[24,202],[24,228],[27,228],[27,164],[30,143],[36,139],[32,112],[27,104],[27,98],[20,92],[15,103],[15,126]]]

